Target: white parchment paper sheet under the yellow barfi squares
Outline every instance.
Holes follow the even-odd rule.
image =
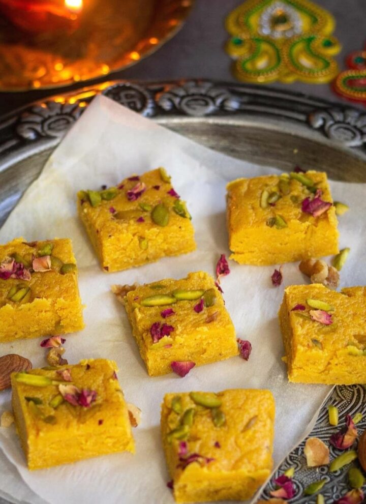
[[[103,184],[116,185],[125,176],[158,166],[166,167],[176,191],[187,200],[196,229],[197,251],[129,271],[103,273],[76,215],[76,192],[98,190]],[[284,287],[304,283],[297,263],[285,264],[283,284],[273,287],[273,266],[240,266],[230,261],[231,274],[222,279],[224,298],[237,336],[252,342],[251,357],[248,362],[237,357],[196,367],[185,378],[173,374],[148,377],[124,308],[110,292],[113,283],[180,278],[197,270],[214,274],[219,255],[229,254],[225,226],[227,182],[239,176],[272,172],[276,169],[205,149],[107,98],[98,97],[88,107],[0,230],[0,241],[6,243],[16,236],[28,241],[72,239],[81,298],[86,305],[86,327],[67,336],[65,356],[71,364],[84,358],[116,360],[127,400],[142,409],[142,422],[133,430],[136,454],[109,455],[29,472],[15,429],[1,429],[0,447],[7,459],[0,458],[3,492],[32,504],[40,504],[42,499],[50,504],[173,503],[166,487],[169,477],[159,427],[160,404],[167,392],[268,388],[277,404],[275,464],[300,440],[330,389],[288,383],[286,366],[281,361],[284,351],[277,312]],[[332,182],[331,189],[334,199],[351,207],[340,218],[341,248],[351,247],[341,286],[364,285],[365,185]],[[0,351],[19,353],[31,359],[34,367],[44,366],[45,352],[40,341],[2,344]],[[0,412],[5,409],[10,409],[10,392],[0,396]],[[26,486],[30,491],[25,496]]]

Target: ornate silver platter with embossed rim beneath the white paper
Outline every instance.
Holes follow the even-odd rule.
[[[294,165],[325,170],[329,177],[366,182],[366,113],[349,105],[271,89],[210,80],[174,82],[114,81],[47,98],[0,117],[0,226],[24,190],[83,110],[103,94],[157,123],[230,156],[290,171]],[[366,196],[366,194],[365,194]],[[327,405],[346,414],[366,413],[363,386],[335,387],[320,410],[312,436],[327,441],[337,430],[327,422]],[[358,424],[366,428],[366,419]],[[326,504],[348,490],[346,470],[328,473],[306,467],[304,441],[281,463],[272,481],[296,467],[296,493],[290,503],[315,503],[303,489],[320,478]],[[334,455],[334,454],[333,454]],[[0,498],[0,504],[11,501]]]

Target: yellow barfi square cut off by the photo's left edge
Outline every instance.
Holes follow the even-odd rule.
[[[0,342],[84,327],[71,241],[0,245]]]

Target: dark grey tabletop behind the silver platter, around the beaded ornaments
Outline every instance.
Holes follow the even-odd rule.
[[[226,15],[241,3],[238,0],[196,0],[190,17],[173,39],[133,67],[111,74],[108,80],[209,78],[234,81],[230,71],[231,60],[224,51],[228,39],[224,22]],[[329,10],[337,21],[334,35],[340,40],[342,51],[336,59],[343,70],[346,68],[346,56],[351,51],[362,49],[366,43],[366,0],[317,0],[317,4]],[[87,84],[102,80],[106,78],[88,81]],[[270,86],[329,100],[345,101],[331,91],[329,84],[295,82],[272,83]],[[0,114],[29,102],[59,94],[63,89],[70,91],[77,87],[80,87],[80,83],[57,90],[0,93]]]

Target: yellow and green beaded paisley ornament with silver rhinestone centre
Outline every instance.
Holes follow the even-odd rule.
[[[227,53],[245,82],[331,81],[341,45],[334,18],[309,0],[247,0],[226,19]]]

